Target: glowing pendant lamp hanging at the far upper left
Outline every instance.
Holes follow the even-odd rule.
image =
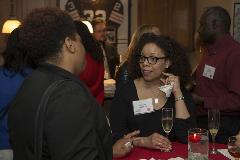
[[[13,0],[11,0],[10,8],[10,18],[4,23],[2,28],[2,33],[11,33],[15,28],[17,28],[21,22],[19,22],[13,14]]]

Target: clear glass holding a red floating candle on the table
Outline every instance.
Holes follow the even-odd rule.
[[[201,128],[188,130],[188,160],[208,159],[208,131]]]

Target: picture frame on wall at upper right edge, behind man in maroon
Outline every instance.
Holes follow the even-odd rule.
[[[236,41],[240,42],[240,3],[234,3],[233,37]]]

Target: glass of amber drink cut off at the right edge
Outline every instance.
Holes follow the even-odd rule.
[[[235,158],[235,160],[239,160],[240,158],[240,145],[236,143],[236,136],[231,136],[228,138],[228,152],[231,156]]]

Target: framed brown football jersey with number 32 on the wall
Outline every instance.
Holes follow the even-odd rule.
[[[129,4],[130,0],[59,0],[60,8],[74,20],[105,20],[107,41],[116,45],[119,54],[125,53],[128,47]]]

